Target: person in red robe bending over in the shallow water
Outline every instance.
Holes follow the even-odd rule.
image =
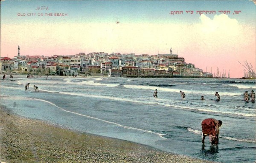
[[[203,132],[202,143],[204,143],[204,138],[209,136],[212,144],[218,144],[219,128],[222,125],[222,121],[214,118],[208,118],[202,121],[201,125]]]

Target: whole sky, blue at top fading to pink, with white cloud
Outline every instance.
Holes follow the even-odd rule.
[[[44,56],[155,55],[172,48],[204,71],[219,68],[241,78],[244,62],[256,67],[255,15],[250,0],[6,0],[0,4],[0,56],[17,56],[18,45],[20,55]]]

